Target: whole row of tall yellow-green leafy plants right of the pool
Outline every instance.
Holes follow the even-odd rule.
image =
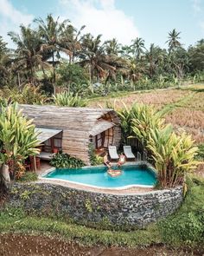
[[[141,104],[131,108],[124,105],[118,111],[122,132],[125,137],[136,136],[153,158],[161,187],[175,187],[182,184],[185,174],[194,170],[197,149],[189,135],[175,135],[170,125],[164,125],[156,110]]]

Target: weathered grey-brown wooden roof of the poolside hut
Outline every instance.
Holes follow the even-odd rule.
[[[33,119],[35,125],[41,128],[61,128],[97,135],[119,123],[118,116],[110,108],[67,108],[48,105],[20,105],[19,107],[23,109],[24,115]],[[110,121],[103,120],[105,115],[109,116]]]

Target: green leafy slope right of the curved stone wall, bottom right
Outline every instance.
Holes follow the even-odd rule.
[[[171,246],[204,244],[204,182],[196,181],[196,183],[188,181],[188,194],[182,207],[167,220],[162,220],[158,224],[165,244]]]

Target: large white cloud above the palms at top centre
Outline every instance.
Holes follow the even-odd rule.
[[[118,43],[129,44],[139,36],[131,16],[118,10],[114,0],[59,0],[63,18],[70,18],[73,25],[93,36],[103,35],[103,40],[118,39]]]

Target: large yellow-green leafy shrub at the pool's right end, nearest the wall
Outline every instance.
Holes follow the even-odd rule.
[[[162,187],[182,185],[185,174],[194,170],[198,148],[190,135],[175,135],[171,125],[150,130],[148,146],[155,161],[158,181]]]

